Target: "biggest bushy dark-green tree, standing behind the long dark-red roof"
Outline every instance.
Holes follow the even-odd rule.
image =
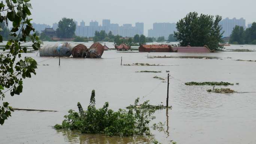
[[[174,37],[180,41],[181,46],[204,46],[210,49],[217,49],[219,43],[222,42],[220,32],[222,27],[219,25],[222,17],[219,15],[211,16],[201,14],[198,16],[196,12],[190,12],[185,18],[180,19],[174,31]]]

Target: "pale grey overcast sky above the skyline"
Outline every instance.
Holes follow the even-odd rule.
[[[177,22],[187,13],[221,15],[222,18],[245,18],[246,24],[256,21],[256,0],[31,0],[33,22],[49,24],[62,17],[80,24],[102,19],[111,23],[144,22],[144,34],[154,22]]]

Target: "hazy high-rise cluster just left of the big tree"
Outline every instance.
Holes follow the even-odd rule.
[[[161,22],[154,23],[153,29],[148,30],[148,37],[162,37],[168,39],[170,34],[173,34],[176,31],[175,23]]]

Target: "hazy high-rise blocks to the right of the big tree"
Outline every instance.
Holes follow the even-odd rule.
[[[225,18],[222,21],[220,21],[219,25],[222,26],[222,31],[224,31],[223,37],[229,37],[230,34],[232,33],[233,28],[236,25],[244,27],[244,29],[245,29],[246,28],[246,20],[243,18],[240,18],[240,19]]]

